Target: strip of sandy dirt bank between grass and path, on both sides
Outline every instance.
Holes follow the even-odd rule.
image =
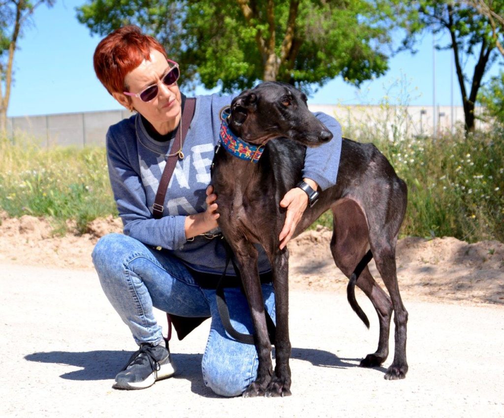
[[[43,219],[9,218],[0,212],[0,262],[92,269],[91,252],[98,238],[121,230],[120,219],[108,217],[92,222],[83,235],[53,236]],[[346,286],[347,278],[329,250],[331,235],[319,227],[291,241],[291,288],[339,291]],[[379,280],[373,262],[370,270]],[[397,274],[403,298],[504,305],[504,244],[498,241],[468,244],[453,237],[406,237],[397,246]]]

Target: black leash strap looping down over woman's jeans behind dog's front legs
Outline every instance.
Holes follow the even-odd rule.
[[[236,341],[239,341],[243,344],[255,344],[255,339],[254,335],[252,334],[243,334],[241,332],[236,331],[234,329],[233,325],[231,324],[231,319],[229,318],[229,309],[227,308],[227,303],[226,303],[226,296],[224,295],[224,282],[226,278],[226,271],[227,267],[229,266],[229,261],[233,264],[234,271],[236,272],[236,279],[241,282],[241,276],[240,276],[240,271],[238,270],[238,267],[236,266],[236,263],[234,261],[233,257],[233,250],[231,250],[231,247],[227,243],[226,240],[222,240],[224,248],[226,249],[226,266],[224,268],[224,272],[222,273],[221,278],[219,279],[219,283],[217,284],[217,289],[215,291],[216,297],[217,297],[217,309],[219,310],[219,315],[221,317],[222,325],[224,326],[224,329],[226,332],[233,337]],[[242,286],[243,289],[243,286]],[[275,338],[276,338],[276,327],[275,323],[273,322],[273,319],[271,319],[270,314],[268,313],[268,310],[266,307],[264,308],[265,311],[265,316],[266,316],[266,325],[268,327],[268,334],[270,336],[270,342],[272,345],[275,344]]]

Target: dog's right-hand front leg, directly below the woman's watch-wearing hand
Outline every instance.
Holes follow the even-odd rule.
[[[273,284],[275,286],[275,376],[266,389],[266,396],[289,396],[290,338],[289,338],[289,252],[278,251],[272,260]]]

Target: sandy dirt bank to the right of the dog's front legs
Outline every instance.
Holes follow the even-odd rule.
[[[329,249],[331,236],[332,231],[318,228],[289,244],[293,285],[315,290],[346,286],[347,278],[335,268]],[[504,304],[504,244],[498,241],[468,244],[453,237],[410,236],[399,240],[396,254],[403,294],[456,303]],[[369,268],[381,282],[373,262]]]

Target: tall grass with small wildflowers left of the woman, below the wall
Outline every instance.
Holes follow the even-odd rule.
[[[17,139],[0,139],[0,208],[10,216],[48,216],[59,228],[116,215],[103,148],[44,149]]]

